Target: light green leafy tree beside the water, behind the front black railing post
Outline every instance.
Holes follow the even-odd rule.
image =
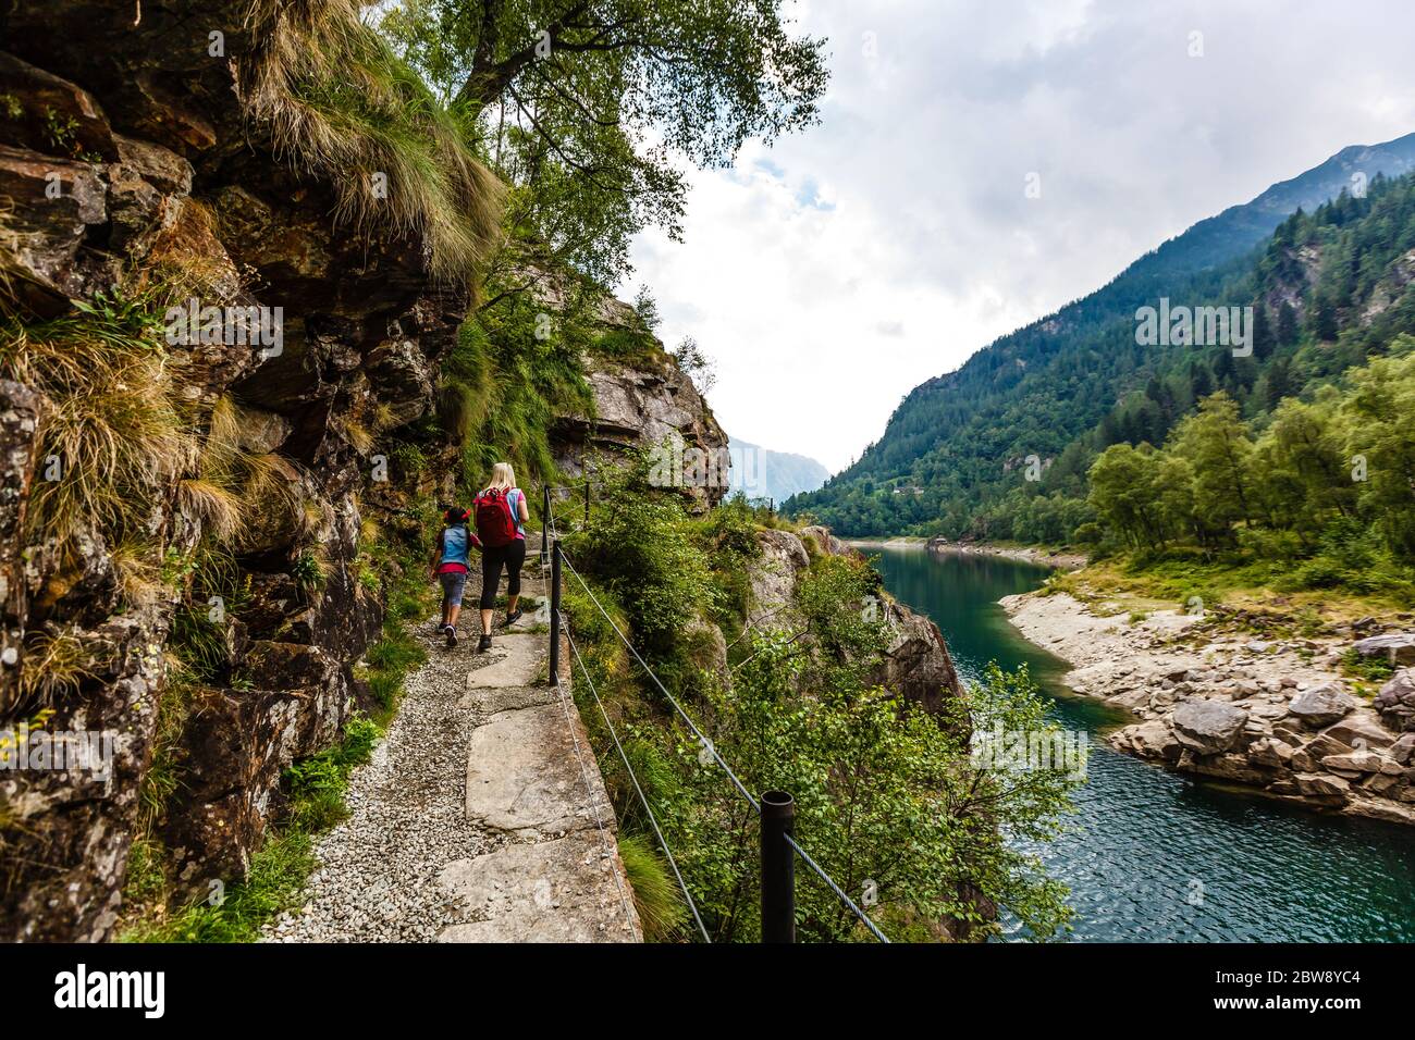
[[[843,603],[836,604],[845,607]],[[969,767],[969,727],[940,719],[883,689],[850,696],[798,692],[805,657],[781,634],[757,635],[732,689],[709,696],[713,747],[754,790],[797,799],[797,835],[845,891],[874,883],[872,915],[901,937],[911,921],[993,925],[1006,906],[1040,938],[1065,921],[1063,886],[1017,849],[1016,839],[1056,833],[1075,780],[1060,770]],[[1007,733],[1056,732],[1024,674],[993,666],[974,692],[979,719]],[[696,749],[682,753],[693,808],[675,814],[669,842],[715,940],[754,941],[757,870],[750,807]],[[1005,838],[1009,835],[1012,840]],[[866,940],[832,891],[807,877],[797,887],[798,931],[814,941]],[[903,931],[903,937],[927,937]]]

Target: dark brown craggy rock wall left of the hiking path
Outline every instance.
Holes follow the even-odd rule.
[[[436,361],[466,308],[463,291],[430,280],[416,235],[341,231],[338,185],[296,173],[270,126],[249,117],[242,62],[273,38],[246,17],[252,7],[52,0],[0,13],[11,304],[72,314],[120,280],[178,270],[200,307],[283,310],[279,351],[195,342],[163,366],[173,400],[190,406],[183,436],[209,440],[215,409],[233,408],[241,450],[267,477],[258,519],[232,546],[242,596],[225,604],[212,681],[177,739],[184,768],[163,838],[192,893],[239,879],[280,771],[328,746],[364,696],[352,665],[382,604],[354,576],[361,521],[398,524],[403,501],[379,480],[379,446],[432,408]],[[164,644],[201,576],[134,597],[102,518],[79,518],[65,538],[34,529],[27,509],[54,461],[44,429],[55,403],[23,374],[0,376],[0,726],[45,709],[48,732],[113,747],[103,780],[0,773],[0,937],[103,940],[166,710]],[[150,474],[144,567],[185,559],[212,522],[191,494],[198,466],[188,453]],[[47,685],[61,652],[82,665]]]

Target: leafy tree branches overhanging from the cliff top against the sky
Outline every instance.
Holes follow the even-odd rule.
[[[628,239],[676,236],[675,156],[727,166],[818,117],[824,41],[778,0],[405,0],[379,28],[468,122],[514,195],[518,238],[613,284]],[[507,265],[518,266],[511,258]]]

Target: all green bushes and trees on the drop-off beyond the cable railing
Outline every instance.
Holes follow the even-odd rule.
[[[993,669],[966,696],[945,695],[938,712],[882,688],[872,676],[891,630],[869,610],[879,574],[859,557],[821,552],[811,535],[792,535],[811,562],[787,607],[749,627],[751,576],[774,566],[761,556],[753,511],[737,498],[693,518],[678,495],[651,488],[645,473],[647,464],[625,470],[597,488],[589,528],[566,538],[570,560],[608,613],[566,574],[574,695],[627,839],[651,842],[661,856],[641,790],[710,938],[751,942],[760,930],[756,814],[713,754],[754,792],[794,794],[802,845],[891,938],[983,938],[999,907],[1037,937],[1056,934],[1067,917],[1064,889],[1012,839],[1056,833],[1074,781],[969,760],[979,720],[1050,732],[1026,676]],[[611,623],[641,648],[710,749]],[[870,940],[805,870],[797,900],[802,941]],[[651,927],[651,938],[696,935],[682,913],[658,917],[665,923]]]

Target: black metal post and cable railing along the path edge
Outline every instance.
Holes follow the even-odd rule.
[[[761,863],[761,941],[763,942],[795,942],[795,859],[799,856],[801,862],[821,879],[822,883],[831,890],[831,893],[841,900],[841,904],[853,914],[860,924],[863,924],[869,932],[880,942],[889,942],[889,937],[880,931],[879,925],[870,920],[870,915],[859,907],[859,904],[852,900],[835,879],[832,879],[825,869],[811,857],[811,855],[801,848],[799,842],[795,839],[795,799],[790,792],[785,791],[766,791],[761,798],[757,799],[747,790],[747,785],[741,781],[727,761],[722,757],[717,749],[713,746],[712,740],[706,733],[698,726],[691,715],[679,703],[669,689],[664,685],[662,679],[654,672],[654,669],[644,661],[644,657],[638,652],[638,648],[630,641],[630,638],[620,630],[618,624],[604,610],[604,604],[600,603],[594,590],[584,580],[574,565],[565,555],[565,549],[560,546],[560,535],[556,529],[555,512],[550,508],[550,488],[543,487],[542,498],[542,525],[541,525],[541,552],[542,552],[542,567],[549,567],[550,570],[550,682],[555,686],[560,685],[560,631],[565,630],[566,642],[570,647],[570,652],[574,657],[576,664],[580,666],[580,672],[584,676],[586,685],[590,688],[590,695],[594,698],[594,703],[604,719],[604,726],[610,733],[610,740],[614,743],[614,749],[618,751],[620,760],[624,763],[624,770],[630,777],[630,782],[634,785],[634,792],[638,797],[640,804],[644,807],[644,812],[648,816],[649,828],[654,832],[654,838],[658,840],[659,848],[662,848],[664,855],[668,857],[669,867],[674,872],[674,879],[678,882],[679,890],[683,893],[683,899],[688,901],[689,911],[692,913],[693,923],[698,925],[698,931],[702,934],[706,942],[712,942],[708,934],[708,928],[703,924],[702,915],[698,911],[698,904],[695,903],[692,893],[688,889],[688,883],[683,880],[683,874],[678,867],[678,860],[674,857],[672,849],[668,846],[668,840],[664,838],[662,828],[658,824],[658,818],[654,815],[654,809],[648,802],[648,797],[644,794],[644,788],[634,774],[634,767],[630,763],[628,754],[624,751],[624,746],[620,743],[618,733],[614,729],[614,723],[610,720],[608,712],[604,707],[604,702],[600,700],[599,691],[594,688],[594,681],[590,678],[589,668],[584,664],[584,658],[580,657],[579,647],[574,644],[574,638],[569,632],[569,625],[562,623],[562,608],[560,608],[560,590],[562,590],[562,570],[569,569],[572,577],[579,583],[580,589],[589,597],[590,603],[600,616],[608,623],[610,628],[618,637],[620,642],[624,644],[638,666],[644,669],[644,674],[652,681],[658,692],[664,695],[668,703],[672,706],[674,712],[683,722],[688,730],[696,737],[703,751],[722,767],[722,771],[727,774],[732,785],[736,788],[737,794],[746,799],[751,807],[753,812],[761,821],[760,826],[760,863]],[[589,518],[589,501],[586,499],[586,524]]]

